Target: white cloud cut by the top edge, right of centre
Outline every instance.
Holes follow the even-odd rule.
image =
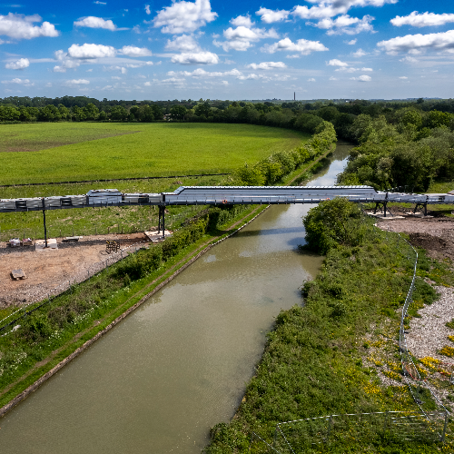
[[[335,15],[345,15],[352,7],[363,6],[383,6],[386,4],[396,4],[398,0],[309,0],[311,3],[318,4],[311,8],[297,5],[291,11],[292,15],[301,19],[323,19],[334,17]]]

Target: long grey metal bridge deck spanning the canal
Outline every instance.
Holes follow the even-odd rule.
[[[377,192],[370,186],[183,186],[174,192],[123,194],[118,197],[65,195],[0,200],[0,212],[137,205],[229,205],[319,203],[335,197],[351,202],[454,203],[452,194]]]

